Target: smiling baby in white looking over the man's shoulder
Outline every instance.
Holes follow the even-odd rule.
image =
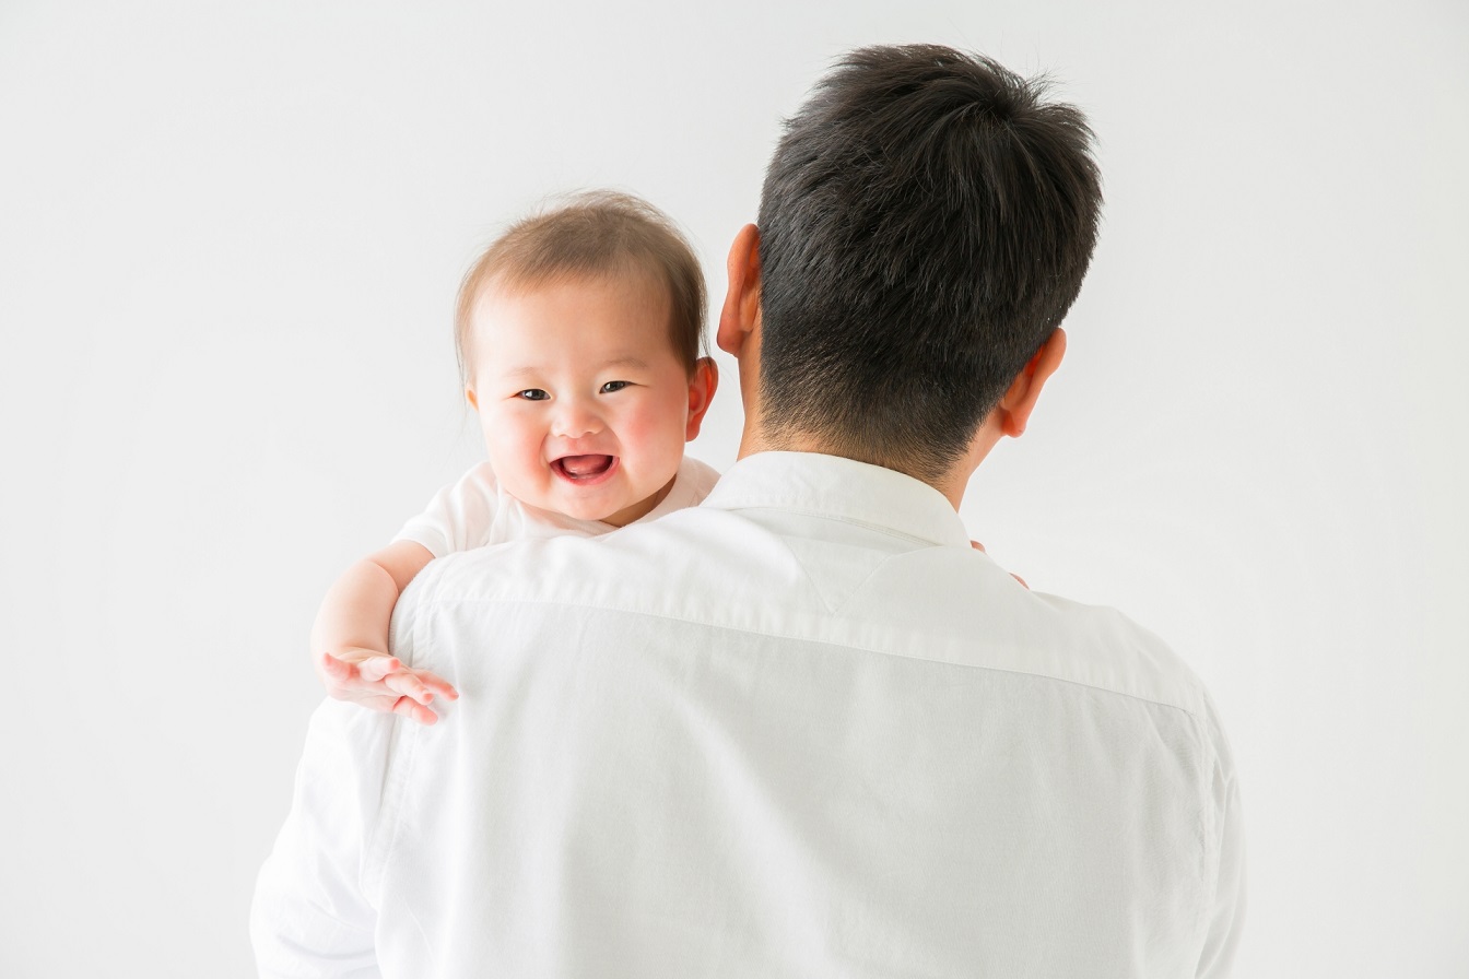
[[[693,506],[718,478],[683,455],[718,380],[701,357],[704,276],[651,204],[591,192],[521,220],[464,276],[454,319],[489,458],[348,568],[311,628],[328,693],[422,724],[458,694],[389,656],[388,625],[429,561],[604,534]]]

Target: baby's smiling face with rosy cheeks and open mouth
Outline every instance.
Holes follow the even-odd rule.
[[[508,493],[617,527],[663,501],[702,414],[668,317],[648,276],[485,289],[467,393]]]

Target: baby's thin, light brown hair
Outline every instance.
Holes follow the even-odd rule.
[[[668,333],[689,374],[704,354],[704,273],[673,220],[617,191],[583,191],[511,225],[470,266],[454,310],[460,380],[469,383],[474,305],[485,288],[527,289],[558,279],[651,274],[668,291]]]

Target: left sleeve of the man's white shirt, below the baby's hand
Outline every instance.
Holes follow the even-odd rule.
[[[291,813],[256,882],[250,938],[261,978],[380,975],[363,870],[394,722],[339,700],[311,716]]]

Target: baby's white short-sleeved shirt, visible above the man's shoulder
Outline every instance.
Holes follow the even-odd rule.
[[[668,493],[640,520],[657,520],[685,506],[698,506],[718,480],[717,471],[683,456]],[[516,499],[495,478],[489,462],[480,462],[457,483],[435,493],[427,508],[404,524],[395,540],[413,540],[435,558],[442,558],[527,537],[596,537],[613,530],[616,527],[599,520],[577,520]]]

